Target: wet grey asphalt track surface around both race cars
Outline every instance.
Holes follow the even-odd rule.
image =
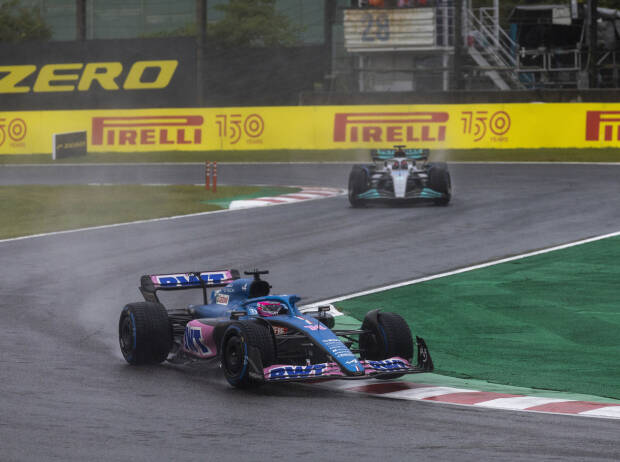
[[[349,170],[222,165],[219,173],[220,184],[344,188]],[[445,208],[351,209],[337,197],[0,242],[0,460],[619,459],[617,420],[296,384],[247,392],[217,369],[121,359],[118,314],[140,299],[142,274],[257,266],[270,270],[274,292],[310,302],[620,230],[620,167],[451,172],[455,196]],[[200,165],[0,167],[0,184],[201,180]]]

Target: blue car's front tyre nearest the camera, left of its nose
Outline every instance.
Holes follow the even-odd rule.
[[[261,385],[263,368],[273,365],[276,359],[271,329],[266,324],[254,321],[232,323],[222,336],[220,355],[226,380],[233,387]],[[251,377],[252,372],[260,377]]]

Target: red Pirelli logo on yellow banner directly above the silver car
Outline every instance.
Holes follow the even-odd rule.
[[[334,142],[444,141],[447,112],[355,112],[334,116]]]

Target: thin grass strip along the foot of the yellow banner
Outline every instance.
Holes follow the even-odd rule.
[[[453,162],[620,162],[620,148],[601,149],[451,149],[431,151],[431,160]],[[163,151],[89,153],[52,160],[50,154],[0,155],[2,164],[136,163],[136,162],[367,162],[368,149],[276,151]]]

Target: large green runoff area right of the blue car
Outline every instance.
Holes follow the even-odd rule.
[[[339,302],[400,313],[436,372],[620,398],[620,238]]]

